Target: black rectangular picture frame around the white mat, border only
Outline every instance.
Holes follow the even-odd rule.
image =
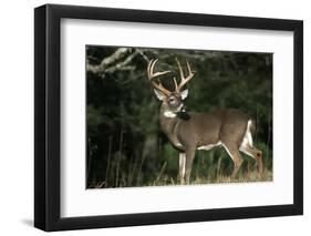
[[[294,35],[293,204],[62,218],[60,216],[60,22],[64,18],[292,31]],[[43,230],[51,232],[303,214],[302,21],[45,4],[34,10],[34,226]]]

